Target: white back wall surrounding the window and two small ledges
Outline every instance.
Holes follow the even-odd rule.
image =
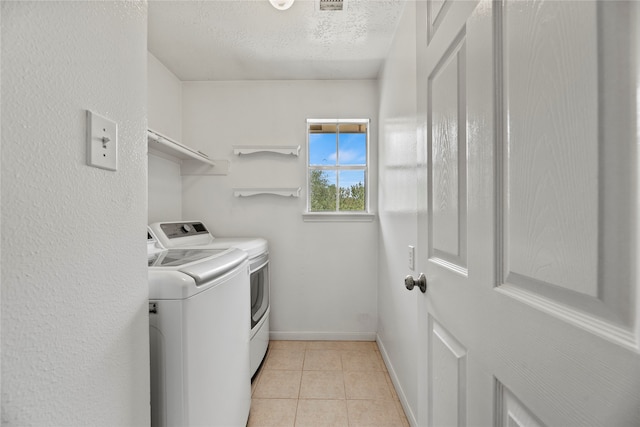
[[[274,338],[375,337],[377,222],[303,222],[306,190],[300,198],[235,198],[233,188],[304,189],[307,118],[371,118],[375,177],[377,105],[375,81],[183,83],[184,141],[232,162],[227,176],[183,178],[183,216],[203,220],[214,235],[269,240]],[[234,156],[233,145],[245,144],[303,150],[297,158]]]

